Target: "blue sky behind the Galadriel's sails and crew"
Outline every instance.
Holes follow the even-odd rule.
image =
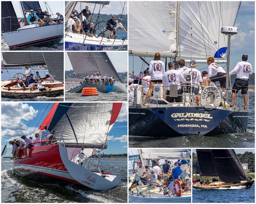
[[[231,46],[230,46],[230,66],[229,69],[232,70],[237,62],[241,61],[242,54],[246,53],[248,55],[248,62],[252,64],[253,72],[255,72],[255,52],[254,52],[254,35],[255,35],[255,22],[254,22],[254,1],[251,2],[244,2],[242,1],[240,5],[240,9],[238,11],[238,15],[236,18],[235,27],[238,28],[238,34],[231,37]],[[203,39],[202,39],[203,40]],[[142,66],[142,60],[139,57],[134,56],[134,61],[132,60],[133,57],[129,56],[129,72],[132,73],[132,65],[134,66],[134,74],[137,75],[140,73],[141,66]],[[189,59],[189,58],[184,58]],[[146,58],[147,62],[150,62],[153,60],[153,58]],[[162,59],[163,62],[165,62],[165,59]],[[168,58],[170,61],[170,58]],[[167,61],[167,62],[169,62]],[[197,64],[197,69],[201,72],[203,70],[207,70],[207,65],[201,65],[198,67],[199,64]],[[222,67],[225,66],[225,64],[220,64]],[[142,70],[147,69],[148,66],[145,65],[145,67]],[[224,68],[226,70],[226,67]]]

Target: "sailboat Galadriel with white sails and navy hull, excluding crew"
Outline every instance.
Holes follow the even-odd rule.
[[[168,57],[176,63],[182,56],[191,60],[213,56],[216,63],[227,62],[229,79],[231,34],[222,34],[221,27],[234,26],[239,7],[240,2],[230,1],[130,2],[129,55],[140,56],[146,62],[143,56],[153,57],[160,52],[165,67]],[[154,18],[153,10],[156,10]],[[206,63],[206,60],[196,62]],[[227,106],[231,91],[228,80],[226,93],[218,87],[199,86],[201,95],[196,96],[191,90],[185,92],[187,87],[182,86],[182,102],[169,103],[159,91],[163,86],[155,84],[154,96],[146,106],[142,87],[135,87],[134,102],[129,106],[129,135],[173,137],[246,132],[249,110],[240,108],[237,95],[235,105]],[[170,87],[171,96],[177,97],[177,86]]]

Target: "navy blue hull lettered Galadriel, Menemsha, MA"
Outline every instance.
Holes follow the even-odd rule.
[[[129,135],[174,137],[246,132],[248,110],[129,106]]]

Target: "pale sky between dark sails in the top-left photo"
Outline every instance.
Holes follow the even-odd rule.
[[[50,14],[52,14],[52,13],[54,14],[53,15],[54,18],[57,17],[57,15],[56,15],[57,12],[59,12],[60,14],[62,14],[64,16],[64,1],[47,1],[47,3],[49,5],[49,7],[47,6],[48,11]],[[47,10],[43,1],[39,1],[39,4],[41,6],[42,11]],[[23,15],[21,14],[19,1],[12,1],[12,5],[14,8],[14,11],[16,12],[17,17],[23,17]],[[50,12],[49,8],[52,10],[52,13]]]

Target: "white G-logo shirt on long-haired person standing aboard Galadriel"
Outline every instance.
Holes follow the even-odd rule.
[[[161,60],[152,60],[149,63],[148,72],[152,80],[162,80],[165,72],[164,62]]]

